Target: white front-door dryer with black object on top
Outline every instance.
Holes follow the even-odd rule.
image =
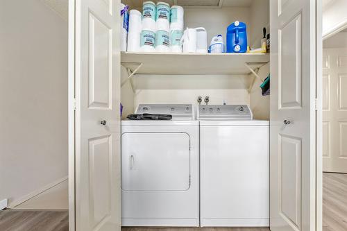
[[[123,226],[198,226],[198,121],[192,105],[139,105],[171,121],[121,121]]]

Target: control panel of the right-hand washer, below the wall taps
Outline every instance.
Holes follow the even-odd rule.
[[[198,105],[198,119],[253,119],[248,105]]]

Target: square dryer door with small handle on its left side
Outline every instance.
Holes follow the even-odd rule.
[[[121,136],[121,188],[186,191],[190,137],[185,132],[125,132]]]

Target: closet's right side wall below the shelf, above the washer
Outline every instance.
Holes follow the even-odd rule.
[[[258,75],[262,80],[266,78],[270,71],[270,64],[262,66]],[[270,119],[270,96],[262,96],[262,89],[259,87],[262,82],[257,78],[251,90],[251,109],[254,119]],[[270,93],[271,94],[271,93]]]

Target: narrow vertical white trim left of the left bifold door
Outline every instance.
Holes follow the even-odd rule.
[[[69,123],[69,231],[76,229],[75,215],[75,0],[69,0],[68,123]]]

